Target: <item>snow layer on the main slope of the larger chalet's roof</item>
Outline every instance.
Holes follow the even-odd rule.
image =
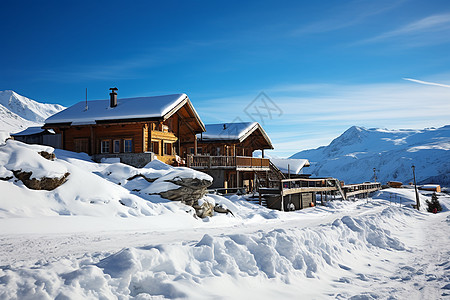
[[[73,125],[95,124],[96,121],[118,119],[158,118],[188,99],[186,94],[153,97],[123,98],[116,107],[110,107],[110,100],[81,101],[49,117],[46,124],[72,123]]]

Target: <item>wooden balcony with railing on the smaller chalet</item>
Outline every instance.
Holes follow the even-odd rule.
[[[269,159],[249,156],[188,155],[192,169],[235,169],[237,171],[269,171]]]

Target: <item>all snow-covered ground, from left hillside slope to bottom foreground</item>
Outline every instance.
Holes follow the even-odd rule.
[[[136,169],[8,141],[0,146],[0,299],[450,299],[450,197],[414,190],[279,212],[207,195],[231,214],[194,218],[154,193],[207,178],[158,161]],[[8,179],[61,176],[53,191]],[[147,178],[159,178],[149,183]]]

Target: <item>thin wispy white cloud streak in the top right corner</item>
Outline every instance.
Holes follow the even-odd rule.
[[[402,38],[402,42],[406,43],[407,46],[448,42],[450,40],[450,13],[428,16],[397,29],[359,41],[357,44],[370,44],[399,38]]]

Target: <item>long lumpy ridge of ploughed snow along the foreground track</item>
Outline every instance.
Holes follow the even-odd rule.
[[[338,211],[351,204],[334,205]],[[0,270],[4,286],[0,295],[11,299],[234,298],[230,287],[242,290],[255,280],[262,291],[265,286],[287,287],[296,282],[303,282],[302,289],[308,291],[308,278],[315,280],[313,283],[329,276],[350,280],[339,274],[352,273],[355,257],[407,250],[384,225],[402,225],[403,218],[417,213],[385,204],[381,209],[377,203],[363,206],[378,211],[368,218],[343,216],[318,227],[205,234],[188,244],[130,247],[115,253],[40,261],[33,267],[9,266]],[[358,276],[364,279],[364,274]]]

